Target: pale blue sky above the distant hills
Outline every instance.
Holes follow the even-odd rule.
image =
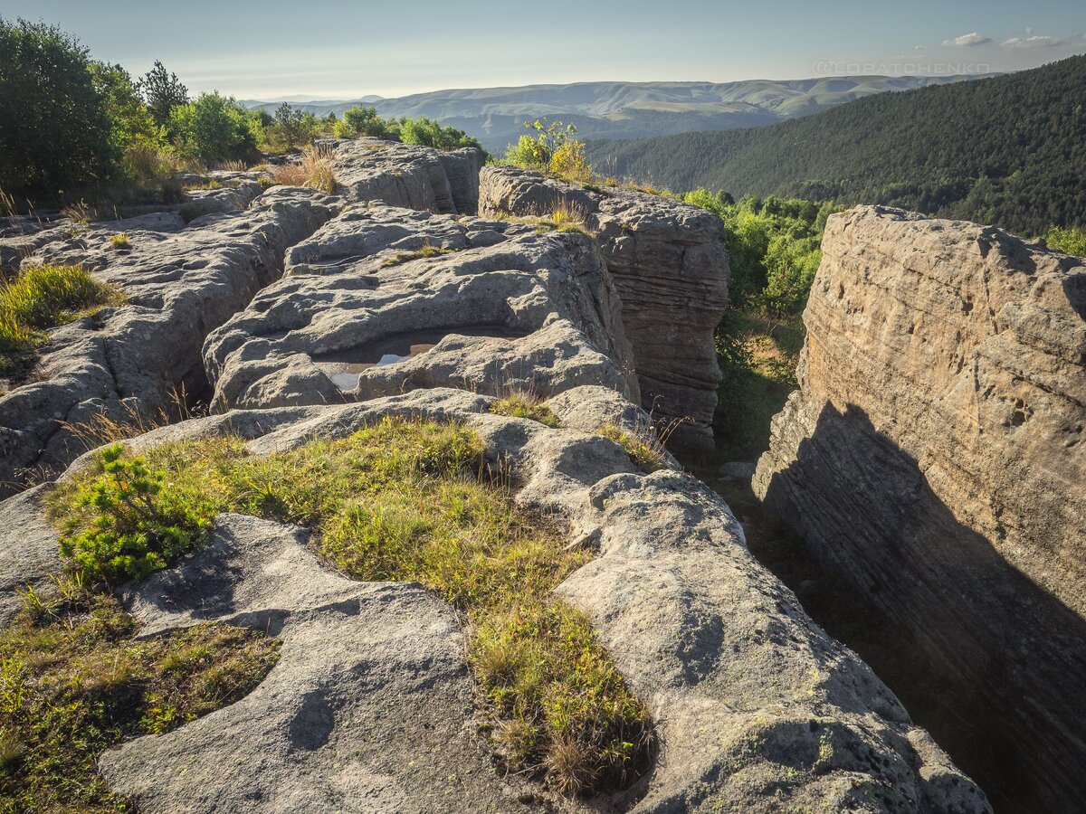
[[[1086,53],[1086,2],[0,0],[190,92],[397,97],[577,81],[1016,71]]]

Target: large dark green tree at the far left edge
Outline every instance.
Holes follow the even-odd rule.
[[[87,49],[0,17],[0,188],[23,199],[100,186],[118,171],[113,135]]]

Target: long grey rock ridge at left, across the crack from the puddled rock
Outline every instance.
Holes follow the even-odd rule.
[[[64,424],[96,415],[156,417],[169,407],[172,390],[201,394],[207,333],[276,279],[287,247],[340,204],[312,190],[279,188],[250,209],[210,215],[185,229],[134,230],[130,251],[105,249],[104,237],[101,245],[79,250],[127,302],[54,329],[31,381],[0,395],[0,494],[16,489],[28,470],[62,468],[83,451]],[[71,247],[48,243],[40,251],[49,253],[24,262],[75,259]]]

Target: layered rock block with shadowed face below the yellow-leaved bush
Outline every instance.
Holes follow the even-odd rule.
[[[622,300],[642,404],[658,423],[683,421],[672,448],[710,453],[720,383],[714,330],[728,304],[720,219],[671,199],[582,189],[512,167],[484,167],[479,185],[484,216],[561,211],[584,221]]]

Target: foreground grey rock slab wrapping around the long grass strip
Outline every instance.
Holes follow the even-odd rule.
[[[566,395],[582,411],[601,405],[595,418],[582,416],[590,424],[614,415],[596,391]],[[989,811],[870,669],[757,563],[717,494],[675,469],[643,474],[602,436],[490,415],[491,400],[430,389],[231,411],[131,443],[231,431],[264,455],[388,415],[465,421],[491,465],[522,484],[519,504],[598,548],[559,592],[589,614],[652,708],[661,748],[635,796],[610,807]],[[143,635],[223,620],[283,641],[247,698],[101,758],[106,778],[141,811],[553,810],[490,767],[449,610],[414,585],[326,572],[298,529],[223,516],[210,545],[131,586],[126,603]]]

